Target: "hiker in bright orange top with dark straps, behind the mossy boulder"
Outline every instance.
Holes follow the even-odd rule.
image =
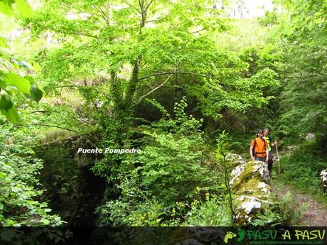
[[[261,160],[262,162],[268,162],[269,151],[266,146],[266,141],[262,138],[264,131],[259,130],[257,138],[251,141],[250,156],[252,160]]]

